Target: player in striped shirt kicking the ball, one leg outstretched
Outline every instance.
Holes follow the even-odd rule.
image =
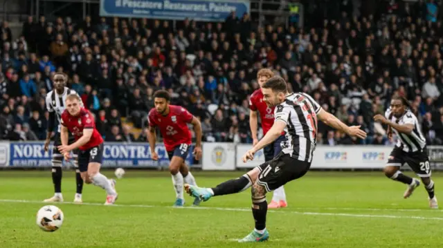
[[[257,151],[277,140],[282,131],[285,131],[287,142],[282,146],[282,151],[273,160],[249,171],[246,176],[228,180],[213,189],[185,185],[186,191],[194,197],[209,200],[214,195],[237,193],[247,184],[253,184],[251,193],[255,229],[239,242],[262,242],[269,239],[269,232],[266,230],[266,192],[278,189],[307,173],[316,148],[317,117],[328,126],[348,135],[366,137],[366,133],[359,129],[360,126],[343,124],[334,115],[323,110],[309,95],[289,94],[287,84],[281,77],[272,77],[266,81],[262,85],[262,92],[264,102],[269,107],[275,107],[275,122],[262,140],[246,152],[242,160],[253,160]]]

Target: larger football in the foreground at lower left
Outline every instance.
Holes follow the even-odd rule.
[[[57,231],[62,227],[63,212],[58,207],[48,205],[37,212],[37,226],[43,231]]]

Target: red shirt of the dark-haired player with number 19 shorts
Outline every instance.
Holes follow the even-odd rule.
[[[181,106],[169,106],[168,115],[161,115],[152,108],[148,119],[150,126],[158,126],[166,151],[173,151],[180,144],[191,144],[191,131],[188,123],[192,122],[194,116]]]

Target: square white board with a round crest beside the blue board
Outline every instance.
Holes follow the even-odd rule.
[[[234,171],[235,144],[204,143],[201,166],[204,171]]]

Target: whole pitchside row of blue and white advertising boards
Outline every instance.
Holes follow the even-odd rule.
[[[193,164],[191,146],[186,162],[206,171],[252,169],[264,163],[263,151],[255,153],[253,161],[242,162],[242,155],[251,144],[203,144],[200,164]],[[389,158],[392,146],[317,146],[311,169],[381,169]],[[443,169],[443,146],[429,146],[431,169]],[[103,167],[150,168],[168,166],[169,158],[163,144],[156,145],[159,160],[151,158],[147,143],[105,142]],[[0,166],[30,168],[51,166],[52,146],[44,151],[43,142],[0,142]]]

